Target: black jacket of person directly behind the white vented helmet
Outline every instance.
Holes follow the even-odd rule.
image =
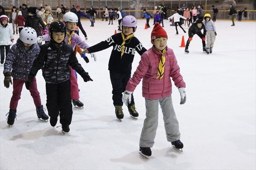
[[[26,22],[25,22],[25,27],[32,27],[35,29],[37,36],[41,36],[41,30],[40,30],[40,25],[43,27],[44,30],[46,30],[46,25],[44,24],[44,21],[40,16],[37,14],[33,16],[27,16],[26,17]]]

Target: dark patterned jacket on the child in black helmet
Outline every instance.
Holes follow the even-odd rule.
[[[45,82],[59,84],[70,79],[70,65],[83,79],[87,79],[87,73],[79,64],[71,45],[63,41],[60,47],[56,48],[54,42],[50,41],[41,45],[40,48],[41,51],[33,63],[29,77],[35,77],[38,70],[44,66]]]

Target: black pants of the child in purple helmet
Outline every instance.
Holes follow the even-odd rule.
[[[125,91],[127,82],[131,78],[131,74],[120,74],[113,71],[109,71],[110,73],[110,80],[112,84],[112,99],[113,99],[113,105],[119,105],[122,106],[122,92]],[[133,94],[131,94],[131,104],[128,104],[128,106],[134,104],[134,97]]]

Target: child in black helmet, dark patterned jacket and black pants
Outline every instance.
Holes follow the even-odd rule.
[[[50,124],[57,124],[58,116],[62,130],[70,131],[72,120],[72,103],[70,95],[70,67],[81,75],[84,82],[93,81],[89,74],[79,64],[71,45],[64,42],[67,27],[61,21],[54,21],[49,26],[50,42],[42,45],[38,57],[35,59],[29,77],[26,80],[26,88],[29,89],[32,79],[38,70],[44,66],[43,76],[46,82],[47,110],[50,116]],[[56,74],[58,73],[58,74]]]

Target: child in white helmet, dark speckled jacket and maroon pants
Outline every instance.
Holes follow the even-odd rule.
[[[35,29],[31,27],[23,28],[20,31],[20,38],[18,38],[16,44],[12,45],[4,63],[3,74],[4,86],[6,88],[9,88],[10,83],[12,84],[11,77],[13,77],[13,91],[10,110],[9,113],[7,113],[7,115],[9,114],[7,118],[7,123],[9,125],[14,124],[23,84],[28,78],[33,62],[40,52],[39,45],[36,43],[36,38]],[[49,117],[44,113],[35,78],[32,79],[29,91],[34,100],[38,118],[43,120],[49,119]]]

